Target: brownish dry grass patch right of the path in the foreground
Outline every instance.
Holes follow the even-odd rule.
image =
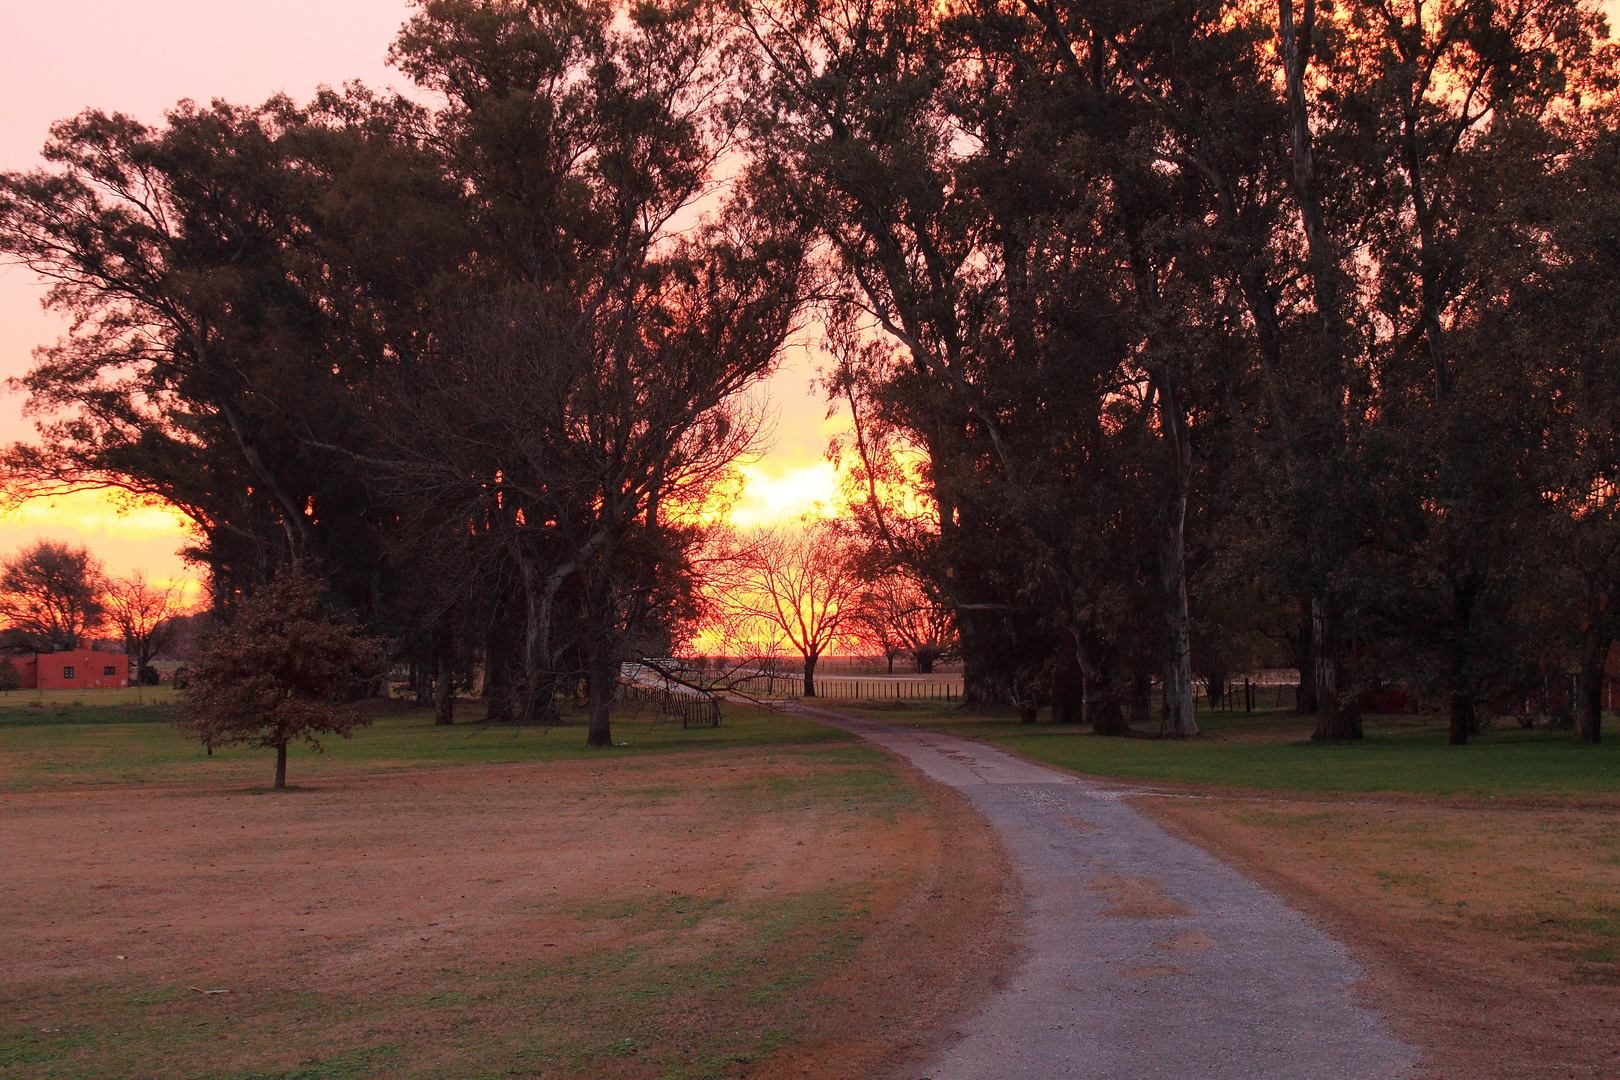
[[[1588,797],[1132,800],[1309,912],[1426,1078],[1620,1075],[1620,826]]]

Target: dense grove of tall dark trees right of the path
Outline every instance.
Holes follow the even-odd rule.
[[[1576,623],[1601,672],[1594,5],[739,11],[753,168],[838,287],[857,520],[951,599],[970,696],[1121,730],[1157,677],[1189,733],[1259,631],[1319,737],[1398,683],[1466,742]]]

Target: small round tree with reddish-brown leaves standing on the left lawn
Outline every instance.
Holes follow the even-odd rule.
[[[319,751],[319,735],[348,738],[369,724],[343,699],[382,667],[382,644],[327,610],[319,581],[292,568],[204,638],[185,729],[209,750],[274,748],[275,787],[287,787],[287,745],[303,740]]]

